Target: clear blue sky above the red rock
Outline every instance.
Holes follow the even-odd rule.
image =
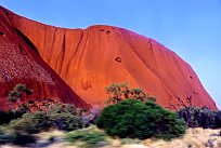
[[[151,37],[193,67],[221,108],[221,0],[1,0],[0,4],[53,26],[113,25]]]

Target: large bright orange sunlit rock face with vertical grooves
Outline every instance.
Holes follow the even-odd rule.
[[[89,104],[103,105],[107,99],[104,88],[110,83],[129,82],[171,109],[180,102],[187,104],[188,96],[193,105],[217,109],[191,66],[153,39],[112,26],[57,28],[8,13],[12,26]]]

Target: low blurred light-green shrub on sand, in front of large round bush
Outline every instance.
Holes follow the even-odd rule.
[[[80,147],[83,148],[96,148],[108,145],[105,137],[104,132],[87,129],[69,132],[66,134],[65,139],[68,143],[81,142]]]

